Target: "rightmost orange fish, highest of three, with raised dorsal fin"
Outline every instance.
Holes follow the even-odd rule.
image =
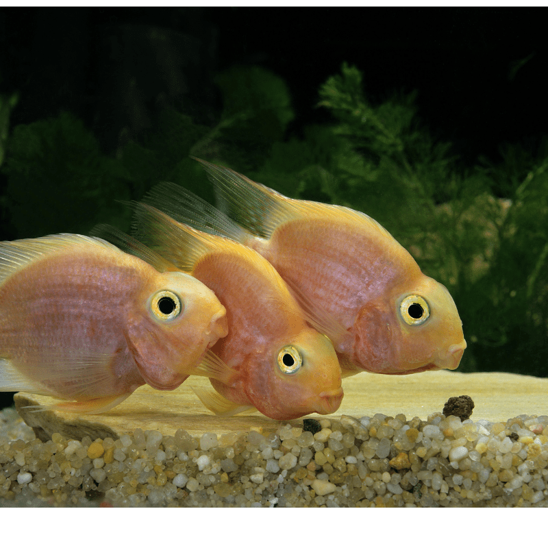
[[[360,371],[403,375],[456,369],[466,348],[449,291],[425,276],[410,253],[364,213],[290,199],[243,175],[199,160],[221,207],[239,225],[180,187],[171,205],[180,221],[234,238],[282,275],[308,321],[329,336],[343,376]],[[154,203],[155,202],[151,202]]]

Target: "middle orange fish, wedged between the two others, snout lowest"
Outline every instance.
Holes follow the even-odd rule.
[[[229,334],[212,352],[235,373],[195,390],[217,414],[254,407],[273,419],[332,413],[343,399],[340,367],[327,337],[308,327],[295,299],[256,251],[204,234],[136,204],[138,237],[211,288],[227,310]]]

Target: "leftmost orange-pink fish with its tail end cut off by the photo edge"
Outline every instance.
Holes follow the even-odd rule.
[[[160,269],[175,270],[136,246]],[[173,390],[190,374],[225,378],[219,364],[201,362],[226,334],[225,308],[212,290],[100,238],[0,243],[0,390],[102,412],[145,382]]]

